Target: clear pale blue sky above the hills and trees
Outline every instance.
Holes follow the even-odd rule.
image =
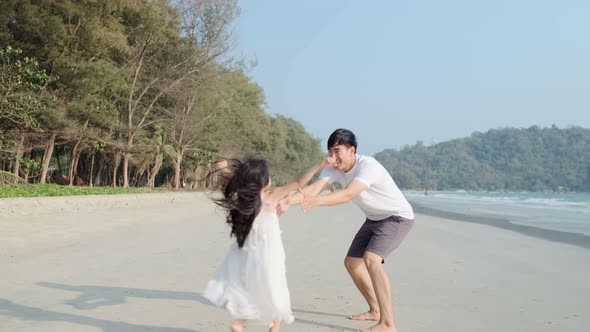
[[[266,111],[372,155],[474,131],[590,128],[588,0],[242,0]]]

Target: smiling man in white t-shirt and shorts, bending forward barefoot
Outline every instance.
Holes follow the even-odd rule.
[[[290,197],[290,204],[300,202],[309,211],[353,201],[363,211],[366,220],[352,240],[344,265],[369,310],[350,319],[378,321],[363,331],[397,331],[391,285],[382,264],[412,228],[414,212],[387,170],[374,158],[356,153],[356,137],[350,130],[334,131],[328,138],[328,151],[331,167],[324,168],[303,194]],[[319,195],[335,182],[343,189]]]

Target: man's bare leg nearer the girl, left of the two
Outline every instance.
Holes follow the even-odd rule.
[[[347,256],[344,259],[344,266],[354,281],[356,288],[358,288],[369,305],[369,311],[352,315],[349,318],[353,320],[379,320],[379,303],[365,262],[362,258]]]

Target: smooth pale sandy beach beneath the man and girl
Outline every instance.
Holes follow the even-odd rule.
[[[356,331],[365,310],[343,266],[352,204],[281,219],[296,321]],[[202,193],[0,199],[0,331],[227,331],[201,291],[228,228]],[[400,332],[587,331],[590,250],[416,215],[386,262]],[[247,331],[265,331],[248,325]]]

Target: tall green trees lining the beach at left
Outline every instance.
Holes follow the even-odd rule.
[[[198,186],[219,156],[276,181],[321,158],[229,58],[235,0],[2,0],[0,171],[29,183]]]

